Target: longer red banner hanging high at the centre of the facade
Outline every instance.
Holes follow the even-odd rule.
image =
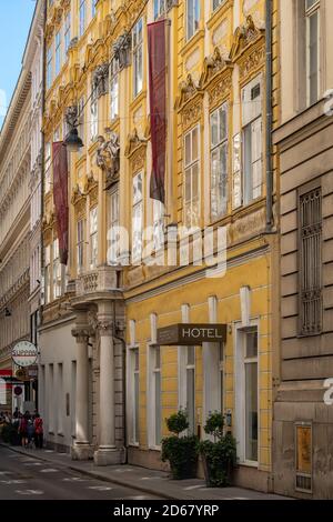
[[[148,26],[152,173],[150,197],[165,201],[167,74],[165,20]]]

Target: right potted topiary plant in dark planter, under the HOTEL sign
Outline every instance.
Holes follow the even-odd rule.
[[[236,441],[231,433],[223,434],[223,414],[215,411],[209,414],[204,431],[213,436],[199,444],[206,485],[221,488],[231,482],[232,469],[236,463]]]

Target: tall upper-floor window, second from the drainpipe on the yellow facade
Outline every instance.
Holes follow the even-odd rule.
[[[228,104],[211,114],[211,219],[228,210]]]

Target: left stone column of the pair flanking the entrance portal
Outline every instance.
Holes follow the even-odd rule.
[[[75,440],[71,448],[73,460],[89,460],[92,448],[89,442],[89,329],[72,330],[77,339]]]

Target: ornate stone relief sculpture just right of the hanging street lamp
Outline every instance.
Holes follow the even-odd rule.
[[[109,189],[119,180],[120,169],[120,144],[117,132],[110,133],[107,141],[104,137],[99,135],[97,150],[97,164],[105,172],[105,189]]]

